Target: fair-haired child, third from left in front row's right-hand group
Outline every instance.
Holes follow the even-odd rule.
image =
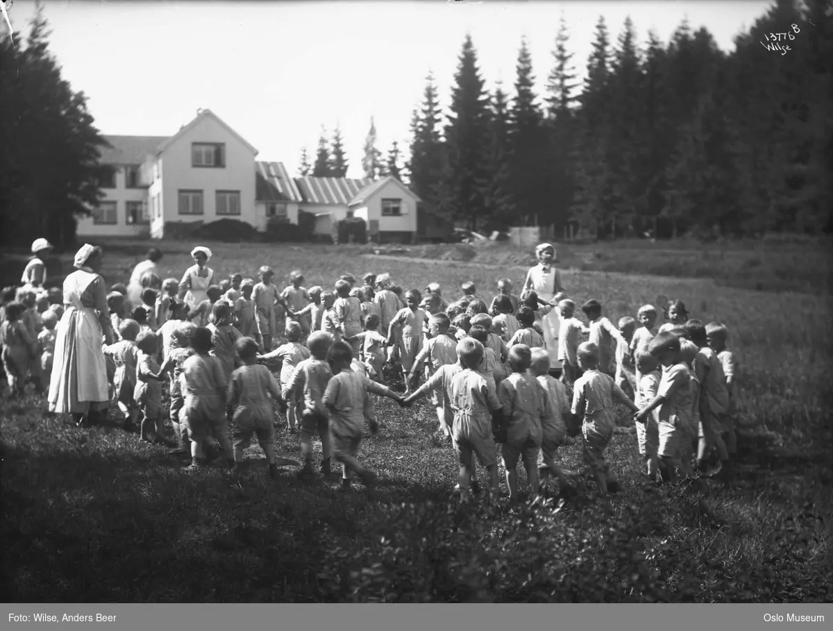
[[[550,474],[556,476],[562,494],[572,494],[573,487],[561,467],[556,465],[556,451],[564,445],[567,436],[566,417],[570,414],[570,401],[561,381],[550,375],[550,355],[542,348],[531,350],[529,375],[546,393],[545,414],[541,417],[541,452],[538,456],[538,485],[546,489]]]

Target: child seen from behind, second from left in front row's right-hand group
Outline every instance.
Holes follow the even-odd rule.
[[[497,390],[501,400],[504,431],[503,465],[506,467],[506,484],[509,499],[518,499],[518,460],[523,460],[526,482],[532,496],[538,494],[538,456],[541,453],[543,429],[541,420],[547,413],[546,393],[541,384],[526,373],[532,360],[529,346],[516,344],[509,350],[512,373]]]

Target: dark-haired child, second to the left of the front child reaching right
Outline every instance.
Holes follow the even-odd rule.
[[[292,326],[293,335],[301,335],[302,328],[297,322],[287,324],[287,333]],[[235,350],[242,366],[232,373],[228,384],[227,406],[229,416],[234,422],[234,462],[235,468],[243,461],[243,450],[257,435],[263,453],[269,464],[269,477],[277,478],[275,448],[272,439],[275,429],[272,427],[272,405],[269,395],[275,400],[281,399],[281,388],[277,385],[272,372],[264,366],[257,365],[257,342],[250,337],[241,337],[235,342]]]

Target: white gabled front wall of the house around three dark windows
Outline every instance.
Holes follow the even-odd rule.
[[[226,145],[223,168],[192,166],[193,142],[222,142]],[[162,199],[164,221],[203,221],[219,219],[246,221],[257,226],[255,206],[255,155],[226,127],[205,117],[183,133],[162,153]],[[179,214],[180,190],[202,191],[202,215]],[[217,191],[240,191],[240,215],[217,215]]]

